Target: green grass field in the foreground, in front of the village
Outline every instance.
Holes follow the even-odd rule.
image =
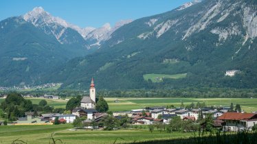
[[[53,132],[55,132],[54,139],[60,139],[63,143],[114,143],[115,139],[116,143],[129,143],[192,136],[192,133],[159,131],[150,133],[148,130],[68,130],[71,127],[70,124],[0,126],[0,143],[12,143],[15,139],[28,144],[49,143]]]

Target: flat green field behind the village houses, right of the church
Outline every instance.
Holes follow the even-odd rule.
[[[131,110],[137,108],[145,108],[146,106],[170,106],[174,105],[179,107],[181,101],[183,104],[189,105],[192,102],[203,103],[207,106],[230,106],[233,104],[240,104],[241,108],[246,112],[257,111],[257,99],[239,98],[239,99],[197,99],[197,98],[105,98],[109,104],[109,109],[112,111]],[[114,100],[118,99],[120,102],[115,103]]]

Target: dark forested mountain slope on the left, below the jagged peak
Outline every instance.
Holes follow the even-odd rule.
[[[0,22],[0,43],[1,86],[41,83],[42,75],[87,52],[61,45],[21,17]]]

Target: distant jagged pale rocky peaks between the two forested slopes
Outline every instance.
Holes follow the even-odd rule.
[[[100,44],[111,38],[111,34],[116,29],[131,23],[131,20],[126,20],[118,22],[114,27],[106,23],[100,28],[80,28],[59,17],[52,16],[42,7],[36,7],[31,12],[27,12],[23,15],[23,19],[43,29],[45,34],[54,35],[61,44],[80,44],[87,49],[99,48]]]

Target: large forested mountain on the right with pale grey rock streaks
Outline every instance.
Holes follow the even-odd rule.
[[[111,38],[92,34],[106,41],[98,53],[72,61],[83,73],[78,76],[77,71],[72,72],[74,67],[69,68],[69,63],[56,75],[65,78],[69,73],[72,80],[63,84],[69,88],[76,88],[76,82],[83,86],[81,76],[101,80],[99,88],[253,88],[257,86],[252,78],[257,77],[256,5],[255,0],[194,1],[128,23],[115,30]],[[108,25],[104,28],[110,29]],[[241,73],[224,77],[228,69]],[[158,85],[144,80],[149,73],[189,74]],[[113,80],[116,85],[109,84]]]

